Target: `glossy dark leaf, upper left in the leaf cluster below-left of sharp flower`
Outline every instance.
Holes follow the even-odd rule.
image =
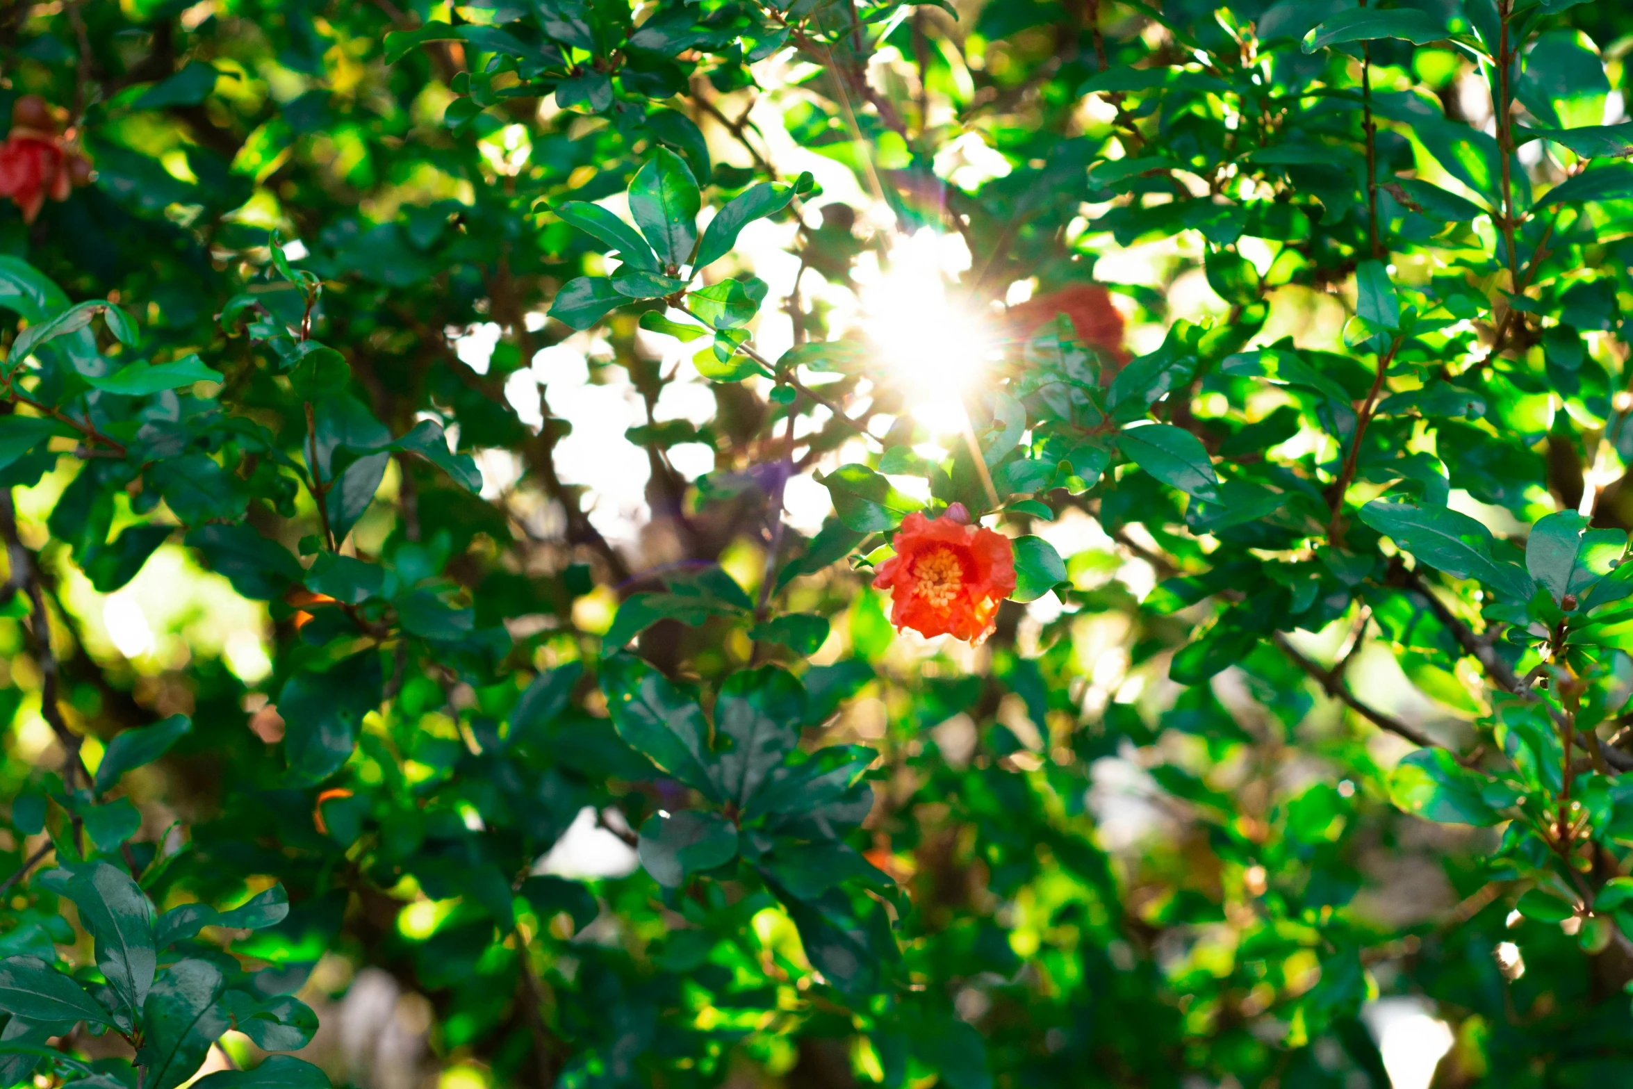
[[[665,676],[627,655],[601,663],[601,687],[617,735],[687,787],[722,802],[704,709]]]

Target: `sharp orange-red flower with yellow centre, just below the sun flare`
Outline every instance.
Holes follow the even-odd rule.
[[[890,589],[890,622],[919,635],[980,643],[996,627],[998,604],[1016,589],[1009,537],[970,524],[954,503],[941,518],[908,514],[879,567],[875,589]]]

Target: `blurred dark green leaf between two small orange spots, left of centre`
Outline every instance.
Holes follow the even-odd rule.
[[[291,774],[328,779],[358,745],[363,715],[380,705],[380,656],[366,650],[328,669],[296,673],[278,694]]]

